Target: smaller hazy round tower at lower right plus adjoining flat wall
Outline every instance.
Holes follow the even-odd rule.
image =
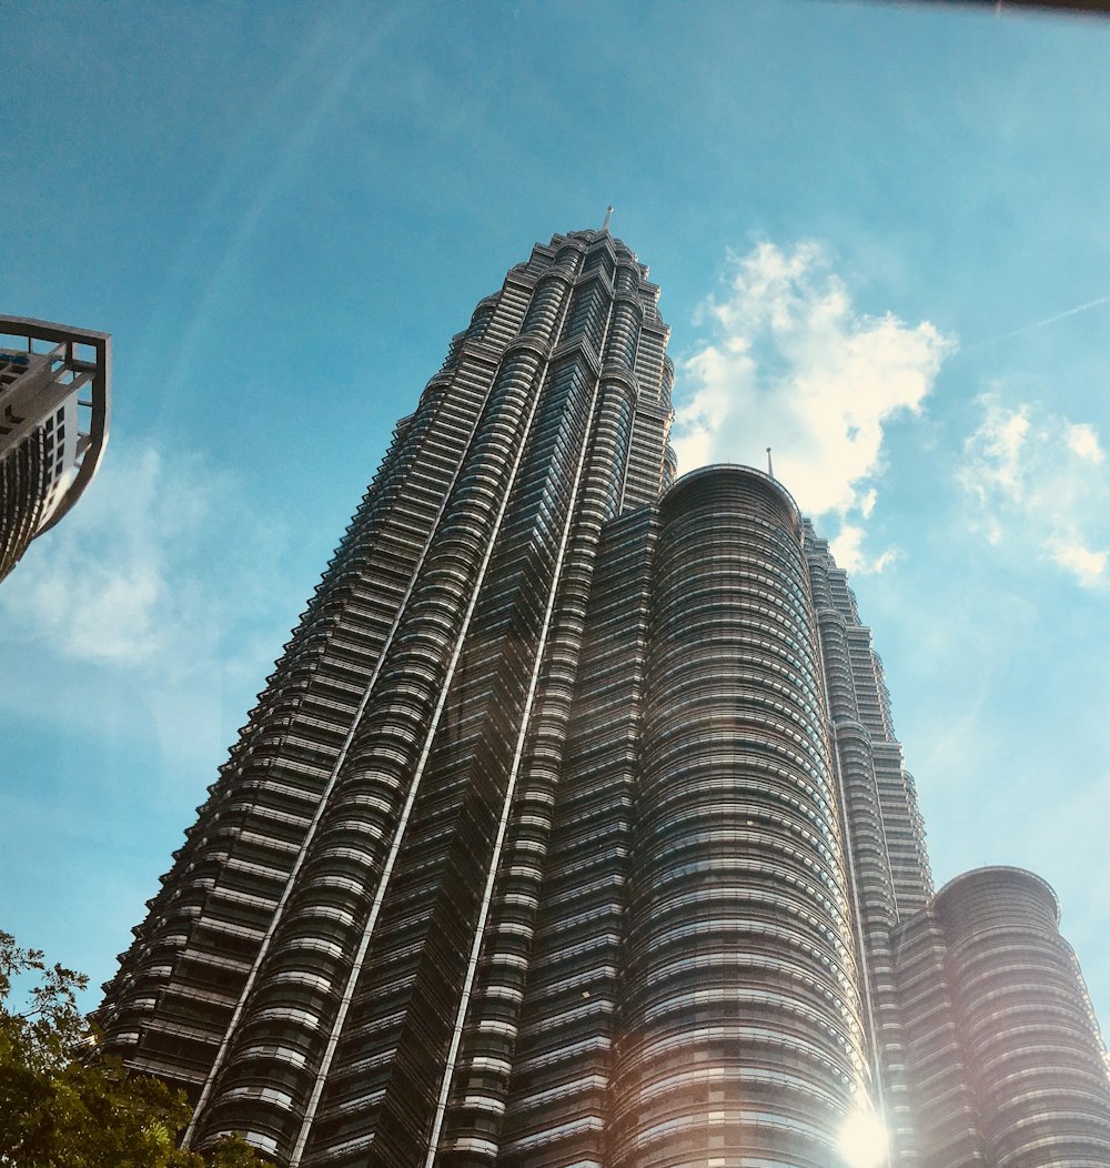
[[[1105,1049],[1059,916],[1038,876],[980,868],[900,930],[928,1168],[1110,1163]]]

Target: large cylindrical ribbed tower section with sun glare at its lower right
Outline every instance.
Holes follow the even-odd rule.
[[[712,467],[662,503],[620,1168],[839,1164],[866,1071],[797,509]]]

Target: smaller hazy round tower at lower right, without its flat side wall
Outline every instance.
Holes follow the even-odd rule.
[[[1110,1082],[1053,890],[979,868],[936,897],[993,1168],[1110,1163]]]

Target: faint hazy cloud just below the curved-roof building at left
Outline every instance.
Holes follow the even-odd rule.
[[[180,667],[249,604],[274,535],[207,459],[113,443],[72,514],[5,582],[0,610],[63,656]]]

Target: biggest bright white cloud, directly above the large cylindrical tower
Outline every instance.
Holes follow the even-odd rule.
[[[761,243],[732,257],[722,298],[698,317],[712,339],[682,366],[675,446],[679,468],[714,461],[765,465],[803,510],[842,520],[839,555],[879,571],[892,551],[866,556],[864,521],[884,472],[884,431],[920,415],[955,342],[923,321],[857,311],[814,242]]]

